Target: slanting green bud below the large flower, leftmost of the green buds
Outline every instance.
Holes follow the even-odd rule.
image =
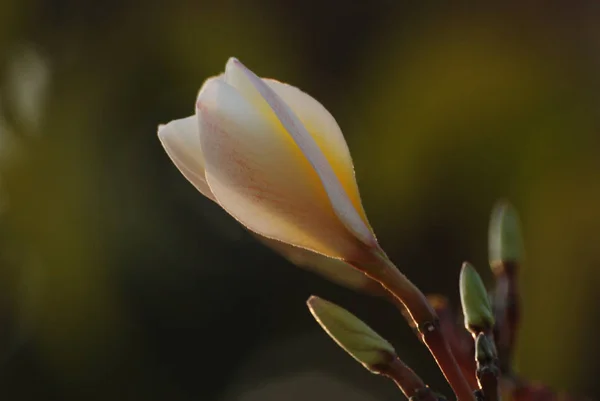
[[[314,295],[306,303],[323,330],[370,372],[396,357],[389,342],[347,310]]]

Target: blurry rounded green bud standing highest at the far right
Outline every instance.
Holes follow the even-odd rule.
[[[489,231],[489,258],[499,262],[520,262],[523,258],[523,235],[517,211],[506,201],[492,211]]]

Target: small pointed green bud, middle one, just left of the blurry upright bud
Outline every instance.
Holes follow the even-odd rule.
[[[481,277],[471,264],[463,263],[460,270],[460,301],[468,330],[485,330],[494,326],[490,298]]]

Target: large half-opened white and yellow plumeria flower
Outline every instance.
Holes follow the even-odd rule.
[[[231,58],[200,89],[196,115],[159,127],[158,136],[183,175],[256,234],[348,262],[379,250],[344,136],[299,89]],[[308,264],[318,270],[318,259]]]

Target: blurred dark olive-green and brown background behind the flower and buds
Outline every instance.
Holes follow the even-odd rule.
[[[177,171],[157,126],[236,56],[336,117],[384,249],[458,305],[520,211],[517,369],[600,394],[600,6],[0,2],[0,399],[397,400],[318,294],[451,396],[397,311],[292,266]],[[450,397],[451,398],[451,397]]]

